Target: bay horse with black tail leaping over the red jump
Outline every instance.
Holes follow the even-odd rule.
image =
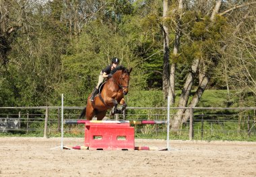
[[[113,76],[107,79],[104,83],[102,90],[94,98],[94,102],[90,101],[90,96],[87,99],[86,108],[82,111],[79,118],[86,116],[87,120],[92,120],[94,116],[97,120],[102,120],[106,116],[107,110],[113,108],[110,112],[111,115],[121,114],[125,110],[127,104],[123,98],[129,91],[129,80],[131,69],[126,69],[123,66],[118,66],[111,73]],[[118,104],[122,105],[121,110],[117,110]]]

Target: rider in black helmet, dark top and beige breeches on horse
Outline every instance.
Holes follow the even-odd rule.
[[[119,59],[117,57],[114,57],[112,59],[112,64],[108,65],[105,69],[102,69],[102,71],[100,71],[100,75],[98,76],[98,85],[94,88],[94,91],[92,92],[92,96],[90,98],[91,102],[94,101],[94,97],[96,96],[96,94],[98,94],[98,87],[100,86],[100,83],[104,81],[104,78],[112,77],[112,73],[110,73],[110,71],[115,69],[117,65],[119,65]]]

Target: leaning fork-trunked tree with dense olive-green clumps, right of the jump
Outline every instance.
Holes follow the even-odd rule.
[[[192,21],[193,27],[191,29],[191,32],[185,33],[183,31],[185,34],[191,34],[189,36],[189,39],[192,40],[194,43],[197,43],[197,46],[195,46],[196,52],[193,53],[195,59],[193,59],[191,65],[191,73],[188,75],[187,81],[185,82],[185,85],[183,87],[183,91],[187,92],[187,95],[181,94],[179,102],[180,104],[178,105],[179,107],[187,105],[187,100],[189,98],[188,93],[191,92],[191,86],[193,85],[193,73],[197,71],[199,63],[207,63],[207,65],[204,65],[207,67],[200,70],[203,71],[203,77],[201,79],[201,82],[199,83],[195,95],[189,103],[189,106],[191,107],[196,106],[199,102],[199,99],[201,98],[204,90],[207,87],[207,84],[210,82],[212,74],[214,73],[214,68],[216,68],[220,59],[222,58],[222,51],[224,48],[221,47],[223,45],[222,42],[218,40],[220,40],[221,34],[225,33],[223,30],[225,29],[225,26],[227,26],[227,23],[226,19],[221,15],[216,16],[216,14],[220,11],[222,3],[222,0],[218,0],[215,2],[211,15],[206,14],[205,17],[200,18],[201,14],[203,13],[197,13],[195,16],[195,22]],[[247,5],[251,4],[252,3],[247,3]],[[228,6],[229,4],[227,3],[225,5]],[[245,7],[245,5],[241,5],[239,7]],[[234,7],[232,7],[231,9],[234,9]],[[223,14],[224,13],[222,13],[222,15]],[[177,130],[181,123],[186,122],[188,118],[189,110],[179,110],[174,116],[174,120],[172,120],[172,129]]]

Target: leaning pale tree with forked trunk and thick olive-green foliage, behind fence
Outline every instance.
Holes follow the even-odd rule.
[[[188,47],[186,47],[185,44],[182,51],[185,56],[189,56],[189,58],[191,58],[192,65],[191,71],[183,87],[183,92],[179,100],[179,107],[187,106],[195,73],[197,72],[197,69],[199,69],[202,77],[201,80],[199,80],[199,87],[189,103],[189,106],[197,105],[208,83],[210,83],[210,79],[214,76],[214,69],[216,69],[218,63],[222,59],[222,52],[226,48],[224,47],[225,45],[222,38],[224,38],[224,34],[228,34],[227,31],[230,30],[230,28],[228,28],[226,17],[222,17],[224,13],[222,13],[222,15],[217,15],[217,13],[220,11],[222,3],[222,0],[216,1],[211,15],[203,15],[203,12],[207,10],[201,11],[201,13],[196,12],[194,15],[193,13],[188,13],[189,28],[185,28],[186,30],[183,30],[183,34],[185,34],[186,37],[189,37],[187,38],[189,39],[187,40]],[[247,5],[251,4],[253,3],[248,3]],[[193,8],[194,5],[196,6],[197,3],[188,4],[188,7]],[[227,3],[225,5],[230,4]],[[247,5],[241,5],[240,7]],[[205,9],[207,9],[207,7],[207,4],[205,4]],[[232,7],[231,9],[236,9],[236,6],[234,6],[234,8]],[[193,15],[192,18],[191,15]],[[184,16],[186,17],[186,15]],[[187,22],[186,18],[184,22]],[[181,125],[182,122],[187,121],[188,118],[189,110],[179,110],[172,121],[172,129],[178,129],[179,125]]]

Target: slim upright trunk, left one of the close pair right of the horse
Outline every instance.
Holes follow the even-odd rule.
[[[163,20],[166,19],[168,11],[168,0],[163,0]],[[164,98],[167,98],[170,87],[170,48],[169,48],[169,32],[168,27],[163,22],[163,34],[164,34],[164,66],[162,75],[162,90],[164,92]]]

